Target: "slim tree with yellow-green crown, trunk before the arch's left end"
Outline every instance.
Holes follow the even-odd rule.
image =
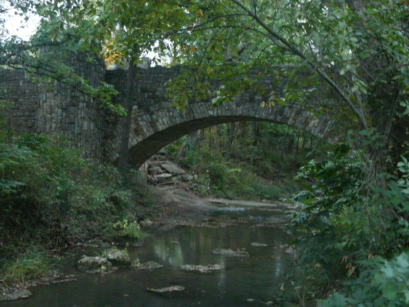
[[[62,40],[74,31],[80,46],[90,43],[102,45],[100,54],[113,61],[129,64],[127,91],[124,102],[126,115],[121,120],[121,145],[118,168],[124,177],[128,163],[128,141],[132,109],[135,106],[133,89],[137,79],[136,67],[148,51],[164,53],[171,41],[166,32],[179,29],[183,6],[167,1],[74,1],[47,3],[41,7],[47,16],[40,36]],[[154,59],[160,62],[160,59]]]

